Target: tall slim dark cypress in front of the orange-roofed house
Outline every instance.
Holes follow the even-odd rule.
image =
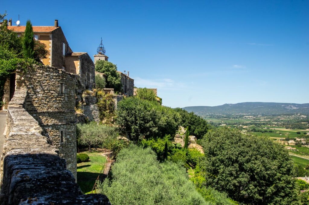
[[[34,56],[33,30],[30,20],[27,21],[25,34],[23,37],[23,56],[25,58],[33,58]]]

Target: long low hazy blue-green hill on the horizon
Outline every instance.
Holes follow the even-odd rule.
[[[210,114],[252,114],[252,115],[283,115],[309,114],[309,103],[279,103],[279,102],[240,102],[219,106],[191,106],[184,107],[188,112],[198,115]]]

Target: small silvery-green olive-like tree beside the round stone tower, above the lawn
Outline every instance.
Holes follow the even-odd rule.
[[[97,124],[96,122],[83,125],[77,124],[77,134],[78,141],[87,145],[89,151],[91,151],[91,146],[95,147],[95,149],[99,146],[103,147],[117,138],[115,128]]]

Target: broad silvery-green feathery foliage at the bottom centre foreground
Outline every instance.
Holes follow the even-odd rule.
[[[205,200],[188,180],[186,170],[175,163],[159,163],[154,151],[129,146],[117,155],[110,179],[97,191],[114,205],[186,204]]]

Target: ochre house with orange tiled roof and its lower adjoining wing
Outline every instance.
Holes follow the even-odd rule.
[[[9,21],[7,28],[22,35],[26,26],[12,26]],[[49,51],[47,58],[42,59],[44,65],[57,67],[81,77],[86,89],[92,89],[95,83],[94,63],[87,53],[73,52],[68,41],[55,20],[54,26],[32,26],[34,38],[46,45]]]

